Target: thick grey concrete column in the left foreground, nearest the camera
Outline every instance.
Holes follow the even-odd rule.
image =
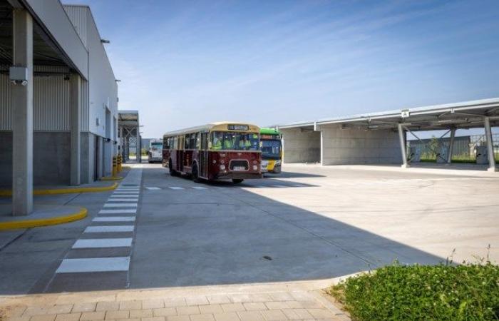
[[[13,11],[13,63],[28,69],[28,83],[12,85],[12,215],[33,211],[33,19]]]

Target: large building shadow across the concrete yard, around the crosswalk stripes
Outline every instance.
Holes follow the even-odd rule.
[[[143,168],[143,185],[196,185],[164,172],[164,168]],[[156,288],[319,280],[373,269],[396,259],[407,264],[444,260],[245,188],[226,188],[234,186],[232,183],[214,185],[220,188],[143,190],[131,251],[118,248],[106,254],[131,255],[128,272],[56,277],[62,258],[88,258],[98,253],[68,252],[108,197],[82,196],[82,202],[92,204],[87,220],[30,230],[19,243],[0,251],[0,262],[5,263],[0,277],[9,278],[0,294],[21,294],[26,288],[31,293],[79,292],[123,289],[123,284]],[[304,193],[305,198],[309,193],[308,185],[289,190],[298,196]],[[124,237],[106,234],[101,237]],[[38,274],[32,272],[34,268]]]

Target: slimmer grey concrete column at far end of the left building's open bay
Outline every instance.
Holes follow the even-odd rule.
[[[81,78],[78,73],[71,74],[71,185],[80,185],[81,168]]]

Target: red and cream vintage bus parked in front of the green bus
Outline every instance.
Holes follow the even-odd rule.
[[[163,167],[196,182],[262,178],[259,130],[247,123],[210,123],[165,133]]]

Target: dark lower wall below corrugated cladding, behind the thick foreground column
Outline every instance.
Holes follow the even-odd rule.
[[[0,185],[12,185],[12,132],[0,132]],[[33,180],[35,185],[69,184],[71,137],[68,132],[35,131]]]

